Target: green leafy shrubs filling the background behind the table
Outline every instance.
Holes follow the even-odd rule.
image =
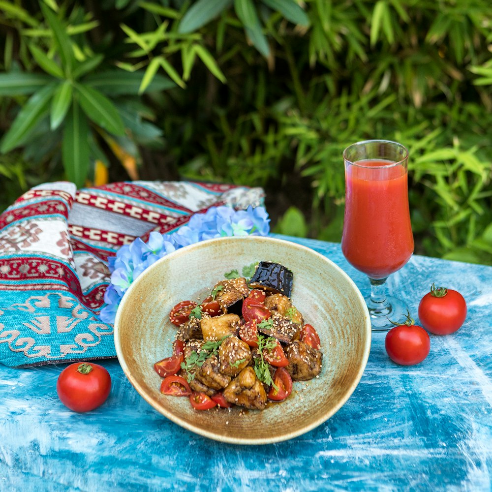
[[[0,32],[0,210],[62,178],[223,181],[339,241],[341,152],[386,138],[416,252],[492,264],[489,0],[0,0]]]

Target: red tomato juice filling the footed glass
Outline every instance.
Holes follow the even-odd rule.
[[[391,164],[371,159],[345,168],[342,251],[374,279],[396,272],[413,253],[407,173],[403,165]]]

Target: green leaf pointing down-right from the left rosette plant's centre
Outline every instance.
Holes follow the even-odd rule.
[[[122,119],[114,104],[92,87],[77,84],[79,101],[87,117],[114,135],[124,135]]]

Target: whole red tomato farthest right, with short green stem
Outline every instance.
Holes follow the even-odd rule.
[[[434,335],[449,335],[456,332],[466,318],[466,302],[456,290],[434,287],[419,304],[419,319],[422,326]]]

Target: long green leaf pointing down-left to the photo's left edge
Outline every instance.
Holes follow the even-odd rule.
[[[0,152],[2,154],[21,145],[36,124],[46,115],[55,87],[55,84],[49,84],[31,95],[1,140]]]

